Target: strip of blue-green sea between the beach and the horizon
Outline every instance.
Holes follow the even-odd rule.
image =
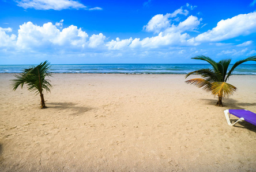
[[[230,65],[232,67],[232,65]],[[0,65],[0,73],[20,73],[31,65]],[[210,64],[65,64],[51,65],[52,73],[187,74]],[[233,75],[256,75],[256,64],[239,65]]]

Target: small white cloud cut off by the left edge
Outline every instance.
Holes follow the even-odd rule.
[[[11,28],[1,28],[0,27],[0,47],[9,47],[15,44],[16,36],[14,34],[6,34],[12,32]]]

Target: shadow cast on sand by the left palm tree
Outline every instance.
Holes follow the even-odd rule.
[[[71,103],[71,102],[65,102],[65,103],[47,103],[47,108],[55,108],[58,110],[71,110],[72,114],[70,115],[81,115],[85,112],[92,110],[92,108],[89,107],[81,107],[76,106],[77,104]]]

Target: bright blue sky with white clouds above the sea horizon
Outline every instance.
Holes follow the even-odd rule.
[[[256,55],[256,0],[0,0],[0,65]],[[253,62],[252,62],[253,63]]]

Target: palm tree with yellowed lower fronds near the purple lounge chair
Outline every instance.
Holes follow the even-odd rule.
[[[243,62],[256,61],[256,56],[251,56],[244,60],[235,62],[229,72],[228,66],[231,62],[231,59],[215,62],[214,60],[212,60],[212,58],[202,55],[196,56],[193,59],[207,61],[210,65],[212,65],[213,69],[200,69],[198,71],[190,72],[185,76],[186,78],[192,74],[199,74],[202,76],[202,78],[191,79],[185,82],[187,84],[196,85],[197,87],[204,89],[206,92],[211,92],[214,96],[218,96],[219,101],[217,101],[216,105],[223,107],[223,97],[231,96],[234,91],[236,91],[235,86],[227,83],[229,76],[231,76],[234,69]]]

